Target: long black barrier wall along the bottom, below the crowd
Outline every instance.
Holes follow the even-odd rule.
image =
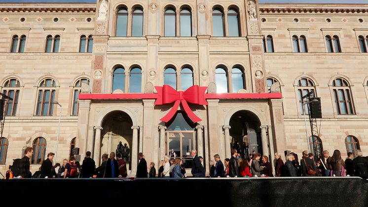
[[[74,204],[97,206],[368,207],[368,183],[347,177],[0,180],[2,201],[20,198],[19,204],[37,204],[35,198],[47,197],[49,205],[73,198]]]

